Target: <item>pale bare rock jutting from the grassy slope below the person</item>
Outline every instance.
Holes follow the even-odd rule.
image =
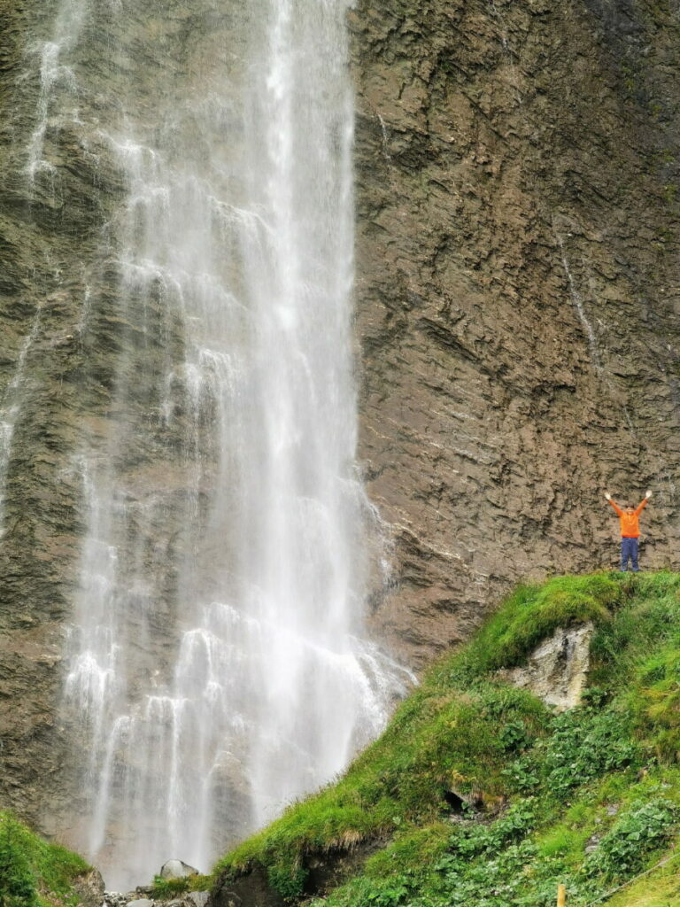
[[[498,678],[527,689],[556,711],[578,706],[587,686],[593,624],[557,629],[529,655],[523,668],[505,668]]]

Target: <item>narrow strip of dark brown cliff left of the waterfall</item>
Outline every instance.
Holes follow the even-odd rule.
[[[83,262],[106,200],[83,180],[77,148],[59,184],[44,174],[31,199],[26,167],[40,102],[32,43],[51,26],[39,6],[0,4],[0,800],[33,821],[63,766],[55,711],[83,530],[73,453],[78,414],[92,403],[79,381],[77,328]]]

